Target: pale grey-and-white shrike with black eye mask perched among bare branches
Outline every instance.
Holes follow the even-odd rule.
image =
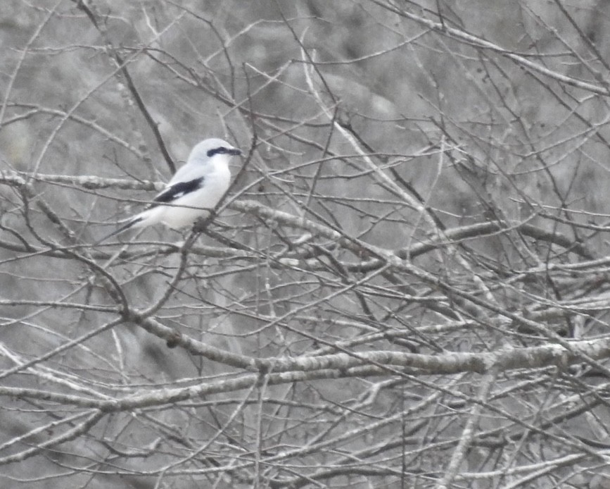
[[[231,156],[241,151],[228,142],[210,138],[196,144],[183,166],[144,211],[120,221],[119,228],[96,242],[99,244],[131,228],[163,223],[179,229],[193,225],[213,209],[229,189]]]

